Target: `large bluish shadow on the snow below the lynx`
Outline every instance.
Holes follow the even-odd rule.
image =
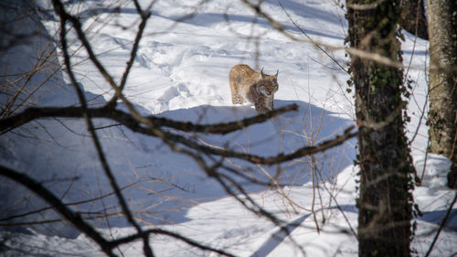
[[[90,105],[104,103],[101,97],[89,92],[86,92],[86,97],[90,100]],[[284,113],[275,120],[255,124],[239,132],[226,135],[185,134],[178,131],[173,133],[193,138],[203,145],[271,156],[291,153],[304,145],[318,145],[322,141],[332,139],[336,134],[341,134],[342,130],[352,124],[350,120],[306,102],[274,102],[275,107],[291,103],[299,105],[298,112]],[[148,114],[140,106],[135,107],[143,114]],[[255,114],[255,110],[249,106],[203,105],[163,112],[160,116],[194,123],[220,123],[236,121]],[[69,207],[79,211],[94,225],[107,227],[107,220],[103,217],[108,215],[114,216],[109,218],[110,226],[130,226],[125,219],[116,217],[116,213],[120,213],[121,209],[117,199],[109,195],[112,192],[110,182],[101,169],[83,119],[43,120],[40,123],[46,129],[33,128],[37,139],[24,140],[20,135],[11,136],[7,145],[15,145],[15,152],[21,155],[11,154],[8,161],[20,162],[20,170],[42,182],[55,195],[62,198],[63,202],[73,203]],[[133,133],[104,119],[94,119],[94,124],[99,128],[97,134],[101,138],[104,154],[112,167],[112,172],[120,186],[124,187],[124,197],[128,200],[133,214],[145,224],[185,222],[186,209],[198,203],[228,196],[218,182],[208,178],[192,158],[171,151],[161,140]],[[44,140],[49,135],[52,135],[52,140]],[[340,170],[352,163],[355,155],[354,144],[354,141],[348,141],[323,154],[315,155],[315,164],[325,179],[331,180]],[[5,155],[7,153],[4,153]],[[218,156],[212,158],[213,160],[205,157],[208,164],[221,161]],[[303,157],[279,166],[262,166],[263,171],[259,166],[231,158],[224,160],[224,166],[260,181],[270,182],[270,178],[264,173],[268,172],[271,177],[279,178],[281,185],[301,186],[310,181],[310,161],[309,157]],[[266,189],[265,186],[252,184],[223,168],[218,172],[234,178],[247,192],[260,192]],[[5,185],[2,188],[11,196],[4,198],[4,206],[27,196],[25,188],[12,185]],[[92,200],[82,203],[88,199]],[[48,205],[31,196],[23,204],[2,213],[1,218],[45,206]],[[41,215],[29,215],[22,221],[57,218],[58,215],[53,211],[46,210],[41,212]],[[18,220],[11,220],[15,221]],[[64,222],[32,227],[50,235],[76,237],[79,234]]]

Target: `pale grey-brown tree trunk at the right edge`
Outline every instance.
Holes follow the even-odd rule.
[[[457,189],[457,1],[428,0],[430,152],[452,161],[448,185]],[[437,69],[438,68],[438,69]]]

